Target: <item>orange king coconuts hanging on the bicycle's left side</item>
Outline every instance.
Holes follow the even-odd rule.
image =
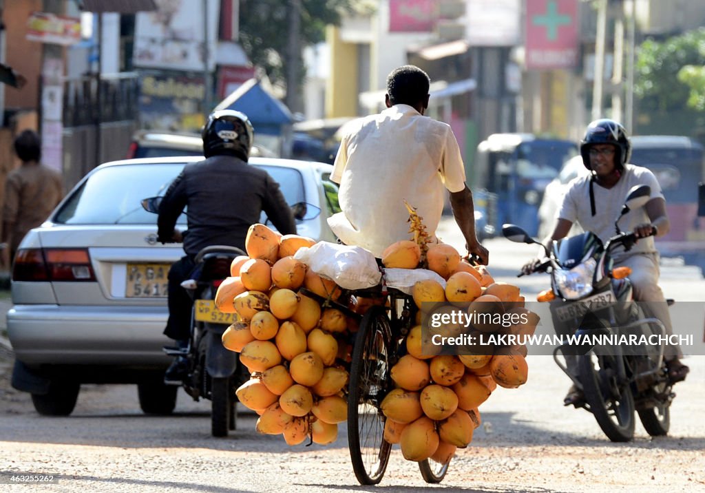
[[[293,257],[313,244],[264,224],[250,226],[247,256],[233,260],[215,299],[219,310],[238,315],[223,333],[223,346],[240,353],[251,374],[235,391],[238,400],[259,414],[258,432],[283,434],[289,445],[307,438],[334,442],[348,412],[343,363],[350,359],[346,338],[356,320],[302,294],[306,288],[326,301],[341,296],[333,281]]]

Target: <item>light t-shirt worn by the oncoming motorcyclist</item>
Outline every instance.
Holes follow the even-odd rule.
[[[595,233],[605,243],[616,234],[615,219],[619,217],[629,190],[635,185],[649,185],[651,198],[663,198],[661,185],[651,170],[634,164],[625,164],[625,169],[619,181],[612,188],[603,188],[594,182],[592,189],[595,197],[595,215],[590,209],[590,178],[578,176],[568,184],[568,190],[563,197],[563,205],[558,211],[558,218],[577,221],[582,229]],[[634,231],[635,226],[650,223],[646,207],[627,212],[619,221],[621,231]],[[618,248],[615,252],[620,252]],[[630,254],[656,252],[654,237],[641,238],[630,250]]]

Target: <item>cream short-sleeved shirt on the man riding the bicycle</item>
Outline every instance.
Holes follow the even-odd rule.
[[[433,235],[445,189],[465,188],[460,147],[447,123],[396,104],[359,118],[343,136],[331,180],[340,183],[343,212],[328,219],[338,238],[380,257],[392,243],[413,239],[406,200]]]

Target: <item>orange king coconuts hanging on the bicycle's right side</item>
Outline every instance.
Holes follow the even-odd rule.
[[[389,268],[427,268],[442,279],[418,281],[412,287],[419,308],[418,325],[406,336],[406,354],[391,369],[397,388],[381,403],[387,418],[384,437],[388,442],[400,444],[403,456],[409,461],[432,458],[447,463],[457,448],[472,441],[473,431],[480,424],[478,408],[496,387],[513,389],[527,381],[527,348],[483,346],[460,348],[456,354],[439,354],[441,347],[431,343],[431,334],[489,335],[497,329],[533,334],[539,317],[524,308],[524,298],[517,286],[495,282],[486,267],[461,259],[450,245],[429,244],[422,218],[415,209],[409,205],[407,208],[415,241],[390,245],[382,262]],[[479,310],[494,317],[515,312],[524,316],[513,319],[525,323],[508,328],[492,323],[478,323],[474,327],[446,324],[435,331],[427,325],[430,312],[448,310],[468,313]],[[423,329],[422,320],[426,324]]]

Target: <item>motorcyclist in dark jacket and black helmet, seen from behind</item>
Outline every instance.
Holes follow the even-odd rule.
[[[296,224],[279,184],[264,169],[250,166],[254,130],[240,111],[219,110],[209,115],[202,130],[203,161],[187,164],[169,185],[159,205],[157,235],[161,243],[183,241],[185,256],[168,274],[169,317],[164,334],[185,347],[190,334],[192,300],[180,286],[194,267],[194,257],[210,245],[245,250],[250,225],[264,211],[282,234],[296,233]],[[175,229],[188,206],[188,229]],[[183,358],[166,370],[165,383],[180,384],[187,371]]]

